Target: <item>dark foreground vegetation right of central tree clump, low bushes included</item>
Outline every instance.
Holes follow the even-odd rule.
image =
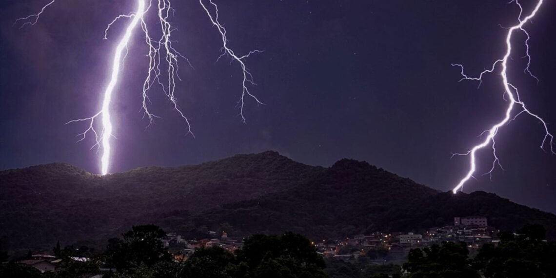
[[[485,244],[471,257],[464,242],[442,242],[411,249],[402,265],[369,264],[358,259],[327,259],[330,278],[549,278],[556,273],[556,242],[544,240],[540,225],[525,225],[513,232],[499,233],[498,245]]]

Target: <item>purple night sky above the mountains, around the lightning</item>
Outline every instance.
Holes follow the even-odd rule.
[[[59,161],[97,173],[92,137],[76,143],[86,123],[64,123],[98,111],[127,21],[117,23],[107,40],[105,28],[133,11],[136,1],[57,0],[35,26],[12,26],[47,2],[0,3],[0,169]],[[276,150],[309,165],[365,160],[448,191],[468,167],[468,158],[450,159],[450,153],[469,150],[503,116],[500,76],[487,76],[477,88],[477,82],[458,83],[459,68],[450,63],[474,74],[503,56],[507,30],[499,24],[515,24],[519,13],[508,1],[215,2],[229,46],[237,54],[264,51],[246,64],[258,84],[250,90],[266,105],[246,99],[242,123],[239,65],[215,63],[220,34],[198,1],[174,1],[174,46],[194,67],[181,62],[176,97],[195,138],[186,136],[185,122],[156,87],[151,109],[162,119],[145,129],[140,108],[147,47],[136,29],[112,103],[117,138],[111,172]],[[521,2],[526,13],[536,3]],[[523,73],[523,34],[515,36],[509,78],[556,134],[554,14],[556,3],[545,1],[525,26],[530,69],[540,82]],[[556,156],[540,150],[543,136],[532,117],[504,126],[497,147],[505,171],[497,168],[492,181],[480,176],[492,164],[485,149],[478,180],[464,191],[494,192],[556,212]]]

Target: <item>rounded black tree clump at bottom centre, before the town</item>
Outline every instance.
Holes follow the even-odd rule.
[[[186,261],[186,277],[324,278],[324,259],[302,235],[254,235],[235,256],[220,247],[195,251]]]

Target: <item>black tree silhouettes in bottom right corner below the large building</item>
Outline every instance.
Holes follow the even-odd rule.
[[[517,235],[502,232],[499,245],[484,245],[474,258],[463,242],[413,249],[403,268],[408,278],[554,277],[556,242],[545,241],[544,235],[540,225],[525,225]]]

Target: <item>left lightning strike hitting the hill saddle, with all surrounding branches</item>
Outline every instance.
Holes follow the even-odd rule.
[[[17,24],[18,22],[23,22],[20,27],[22,28],[28,24],[29,25],[36,24],[38,22],[39,17],[46,10],[46,8],[48,8],[48,6],[53,4],[55,1],[56,0],[52,0],[48,4],[44,5],[41,11],[39,11],[36,14],[31,14],[27,17],[18,18],[14,22],[14,25]],[[128,53],[127,45],[131,39],[133,30],[136,28],[137,25],[141,26],[141,29],[145,35],[145,43],[147,44],[148,47],[147,57],[149,63],[147,68],[147,76],[145,78],[145,81],[143,82],[143,88],[142,88],[143,101],[141,107],[144,117],[147,117],[149,120],[147,127],[153,123],[153,120],[155,118],[160,118],[156,116],[154,113],[152,113],[148,108],[148,103],[150,103],[148,92],[151,90],[153,85],[160,85],[162,91],[165,93],[168,100],[171,101],[174,110],[180,115],[180,117],[183,118],[183,120],[185,120],[187,126],[186,135],[191,134],[193,137],[195,137],[193,135],[193,132],[191,131],[190,121],[185,116],[185,114],[180,110],[177,104],[177,98],[175,96],[176,80],[181,81],[180,76],[178,75],[178,70],[179,70],[178,59],[180,58],[184,59],[189,64],[189,66],[191,66],[191,63],[186,57],[184,57],[180,52],[178,52],[172,46],[173,41],[171,39],[171,34],[173,31],[175,31],[176,28],[172,27],[172,24],[170,23],[170,15],[173,14],[174,12],[170,0],[154,0],[154,2],[156,3],[155,8],[153,8],[153,0],[137,0],[137,9],[135,12],[129,14],[120,14],[119,16],[114,18],[112,22],[108,23],[108,26],[106,27],[104,32],[104,37],[103,37],[104,39],[108,38],[108,32],[110,31],[110,28],[118,20],[123,18],[131,19],[131,22],[128,23],[127,25],[126,32],[123,34],[123,37],[118,42],[114,52],[114,56],[112,59],[113,62],[112,62],[111,77],[110,77],[110,81],[108,82],[108,85],[106,86],[106,90],[103,94],[104,97],[102,101],[101,110],[91,117],[80,118],[77,120],[68,121],[66,123],[66,124],[76,123],[76,122],[88,123],[87,129],[84,132],[78,134],[78,136],[81,137],[78,140],[78,142],[85,140],[88,133],[92,133],[92,135],[95,137],[95,144],[91,148],[97,147],[99,150],[102,149],[102,156],[101,156],[102,175],[106,175],[108,173],[110,167],[110,161],[111,161],[110,141],[111,141],[111,137],[113,137],[113,130],[114,130],[111,121],[111,114],[110,114],[112,95],[113,93],[115,93],[114,90],[118,83],[118,76],[123,69],[123,61],[125,60],[125,57],[127,56]],[[256,84],[253,81],[253,77],[251,73],[245,66],[244,60],[247,57],[249,57],[251,54],[261,53],[262,51],[254,50],[254,51],[250,51],[244,56],[236,56],[234,51],[227,45],[228,40],[226,38],[226,29],[219,22],[219,18],[218,18],[219,17],[218,6],[214,2],[212,2],[212,0],[209,0],[209,3],[214,9],[214,12],[211,13],[209,9],[205,6],[205,4],[203,4],[202,0],[199,0],[199,3],[207,13],[207,16],[209,16],[209,19],[212,22],[212,24],[214,24],[214,26],[217,27],[222,37],[222,54],[219,56],[217,61],[221,57],[227,55],[232,58],[232,61],[236,61],[240,63],[242,73],[243,73],[243,79],[242,79],[242,93],[241,93],[240,100],[238,101],[238,106],[240,110],[241,119],[245,123],[245,116],[244,116],[245,97],[249,96],[253,98],[257,104],[263,104],[263,103],[259,101],[259,99],[255,95],[252,95],[249,92],[249,89],[247,88],[247,83],[250,83],[252,86],[255,86]],[[151,36],[150,29],[148,28],[144,18],[144,15],[151,8],[156,9],[158,21],[160,22],[160,37],[157,38],[153,38]],[[164,64],[164,69],[161,69],[162,64]],[[163,78],[165,78],[165,80],[163,80]],[[102,127],[100,132],[97,132],[97,130],[95,129],[96,126],[95,121],[98,120],[98,117],[100,117],[100,123]]]

